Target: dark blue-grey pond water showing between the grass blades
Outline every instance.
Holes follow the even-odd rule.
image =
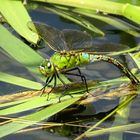
[[[39,21],[46,23],[48,25],[54,26],[60,30],[62,29],[78,29],[83,30],[79,25],[69,22],[53,13],[47,13],[46,11],[38,10],[29,10],[29,13],[34,21]],[[114,43],[122,43],[128,45],[129,47],[135,46],[140,40],[138,38],[134,38],[133,36],[126,34],[122,31],[113,28],[107,24],[99,24],[99,21],[93,21],[95,25],[99,28],[103,29],[106,32],[105,37],[94,36],[95,41],[97,42],[114,42]],[[131,41],[130,41],[131,40]],[[43,48],[42,55],[45,57],[49,57],[53,54],[53,51],[50,48]],[[131,60],[129,56],[117,56],[124,65],[127,67],[132,68],[135,66],[134,62]],[[5,55],[5,53],[0,53],[0,65],[1,71],[18,75],[21,77],[25,77],[31,80],[36,80],[26,69],[24,69],[19,63],[12,60]],[[82,72],[86,74],[87,79],[95,79],[95,80],[107,80],[113,79],[116,77],[121,76],[121,72],[114,66],[99,62],[92,65],[86,66],[82,69]],[[76,80],[76,79],[75,79]],[[7,84],[4,82],[0,83],[0,94],[11,94],[13,92],[17,92],[20,90],[25,90],[23,87],[18,87],[15,85]],[[137,123],[140,122],[140,100],[139,96],[137,96],[132,104],[131,104],[131,111],[129,115],[128,123]],[[113,108],[118,105],[119,99],[115,100],[99,100],[94,102],[93,104],[87,106],[75,106],[74,112],[61,112],[54,117],[50,118],[50,122],[71,122],[81,120],[84,125],[94,124],[103,118],[106,114],[108,114]],[[102,127],[111,126],[113,123],[114,117],[109,118],[105,123],[102,124]],[[80,123],[79,123],[80,124]],[[42,128],[36,131],[29,131],[26,133],[19,133],[15,135],[10,135],[3,140],[69,140],[74,139],[80,133],[84,132],[86,129],[84,127],[70,127],[70,126],[63,126],[63,127],[55,127],[51,129]],[[109,138],[108,135],[98,136],[94,138],[87,138],[87,139],[102,139],[107,140]],[[86,139],[86,138],[85,138]],[[140,139],[140,131],[139,130],[132,130],[128,131],[123,134],[124,140],[138,140]]]

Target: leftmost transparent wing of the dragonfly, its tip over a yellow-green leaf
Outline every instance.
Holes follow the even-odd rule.
[[[63,33],[60,30],[39,22],[28,23],[29,28],[33,26],[35,26],[40,38],[43,39],[51,49],[54,51],[67,49]]]

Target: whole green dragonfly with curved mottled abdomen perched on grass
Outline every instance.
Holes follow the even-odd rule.
[[[40,65],[40,72],[47,77],[44,89],[54,79],[54,87],[58,78],[66,88],[65,82],[59,76],[59,73],[81,77],[88,91],[85,76],[81,74],[79,66],[86,65],[96,61],[106,61],[117,66],[133,84],[138,84],[139,80],[119,61],[100,53],[94,53],[94,43],[89,34],[65,29],[60,31],[46,24],[34,23],[38,34],[46,44],[55,51],[50,59],[45,59]],[[91,47],[93,46],[93,47]],[[96,50],[96,49],[95,49]],[[71,73],[77,70],[78,73]]]

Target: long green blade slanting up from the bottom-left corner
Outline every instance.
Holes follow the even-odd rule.
[[[51,117],[52,115],[56,114],[57,112],[70,106],[71,104],[78,101],[79,99],[80,98],[71,98],[70,100],[66,100],[64,102],[60,102],[60,103],[54,104],[52,106],[46,107],[38,112],[32,113],[31,115],[20,117],[17,120],[15,120],[14,122],[2,125],[2,126],[0,126],[0,138],[7,136],[9,134],[15,133],[18,130],[21,130],[27,126],[36,124],[39,121],[47,119],[48,117]],[[20,120],[20,121],[18,121],[18,120]],[[25,120],[25,122],[22,120]]]

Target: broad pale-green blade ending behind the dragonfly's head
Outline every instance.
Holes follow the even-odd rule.
[[[41,76],[37,66],[43,58],[0,25],[0,47],[32,73]]]

